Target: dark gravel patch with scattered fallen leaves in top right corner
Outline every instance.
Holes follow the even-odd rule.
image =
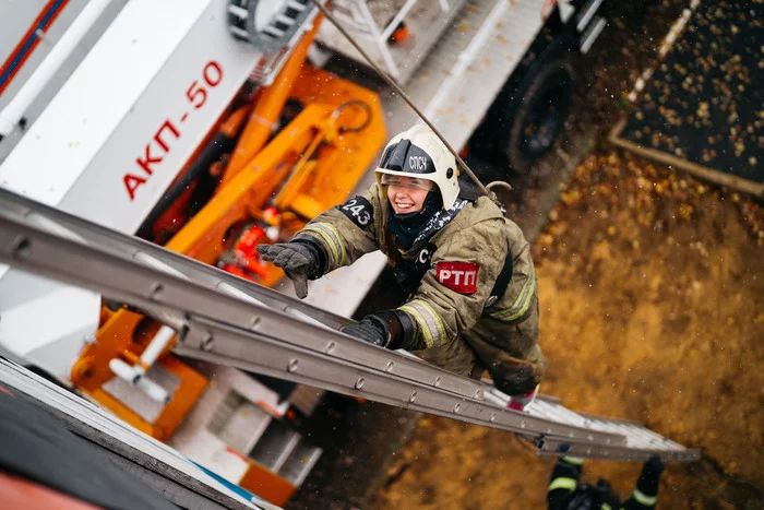
[[[621,137],[764,182],[764,3],[702,2]]]

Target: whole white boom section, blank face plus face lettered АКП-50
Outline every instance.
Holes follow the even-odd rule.
[[[255,64],[254,48],[227,32],[226,3],[129,2],[0,166],[0,185],[134,232]],[[211,60],[223,79],[204,85],[206,100],[195,109],[186,94],[194,81],[204,83]],[[166,120],[179,135],[165,129],[154,140]],[[160,159],[150,165],[152,175],[136,163],[147,144]],[[133,200],[128,174],[146,178]]]

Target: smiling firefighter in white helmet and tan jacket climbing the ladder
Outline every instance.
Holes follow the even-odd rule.
[[[408,295],[343,332],[403,348],[479,379],[523,411],[546,365],[538,339],[538,293],[529,244],[499,206],[458,178],[456,159],[426,126],[385,146],[377,183],[312,220],[286,244],[263,245],[303,298],[308,280],[382,250]]]

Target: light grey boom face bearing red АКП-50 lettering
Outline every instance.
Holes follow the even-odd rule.
[[[104,143],[61,202],[61,209],[121,232],[138,229],[256,63],[260,54],[228,34],[225,4],[225,0],[210,3],[160,74]],[[223,78],[214,87],[204,85],[206,99],[196,109],[187,91],[193,82],[204,83],[203,72],[211,61],[219,64]],[[214,81],[214,66],[206,69]],[[176,138],[165,129],[159,135],[169,149],[165,153],[155,133],[167,120],[180,135]],[[160,163],[151,165],[151,176],[136,163],[146,154],[162,157]],[[146,179],[135,190],[133,200],[126,188],[126,175]]]

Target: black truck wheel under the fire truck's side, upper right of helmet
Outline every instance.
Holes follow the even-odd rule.
[[[558,58],[525,76],[511,94],[499,149],[522,171],[546,154],[560,135],[573,98],[573,66]]]

